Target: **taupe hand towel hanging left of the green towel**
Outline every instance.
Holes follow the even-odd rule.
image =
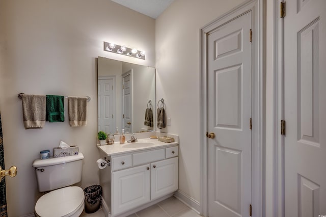
[[[45,124],[46,96],[21,94],[25,129],[42,128]]]

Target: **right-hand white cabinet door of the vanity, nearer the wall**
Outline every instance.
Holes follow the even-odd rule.
[[[178,157],[151,163],[151,200],[177,191]]]

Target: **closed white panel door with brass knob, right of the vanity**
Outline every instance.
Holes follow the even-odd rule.
[[[208,36],[208,215],[249,216],[251,12]]]

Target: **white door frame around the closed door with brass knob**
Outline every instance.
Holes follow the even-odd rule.
[[[263,216],[264,176],[263,176],[263,141],[264,141],[264,47],[263,23],[264,0],[250,0],[213,20],[200,29],[200,213],[208,216],[208,153],[207,153],[207,36],[206,33],[219,26],[252,11],[252,216]],[[249,34],[249,33],[248,33]]]

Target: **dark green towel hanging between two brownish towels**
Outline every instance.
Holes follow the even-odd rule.
[[[46,95],[46,121],[64,122],[64,96]]]

